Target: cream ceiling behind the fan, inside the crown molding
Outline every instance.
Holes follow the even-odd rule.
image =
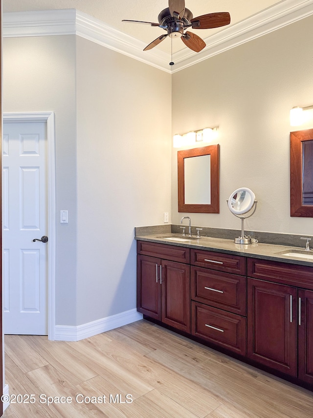
[[[286,1],[286,0],[284,0]],[[186,7],[194,17],[213,12],[229,12],[229,26],[245,21],[250,16],[284,1],[276,0],[185,0]],[[164,29],[150,25],[123,23],[122,19],[157,22],[159,12],[168,7],[168,0],[3,0],[3,12],[22,12],[34,10],[77,9],[96,18],[113,28],[150,44],[158,36],[165,34]],[[205,41],[224,28],[192,30]],[[188,29],[190,30],[190,29]],[[155,47],[171,53],[171,40],[165,39]],[[180,39],[173,40],[173,53],[186,49]],[[196,54],[196,52],[194,53]]]

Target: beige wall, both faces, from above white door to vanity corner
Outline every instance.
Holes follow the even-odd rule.
[[[76,36],[4,39],[3,112],[43,111],[55,112],[56,325],[135,309],[134,227],[171,211],[171,75]]]

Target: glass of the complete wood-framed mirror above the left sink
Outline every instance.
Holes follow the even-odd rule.
[[[211,203],[211,155],[184,159],[185,203]],[[197,181],[194,179],[197,178]]]

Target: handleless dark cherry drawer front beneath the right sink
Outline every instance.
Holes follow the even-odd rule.
[[[289,286],[313,290],[313,267],[247,258],[247,275]]]

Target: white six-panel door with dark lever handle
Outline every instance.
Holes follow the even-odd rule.
[[[45,122],[3,123],[4,334],[47,335]]]

